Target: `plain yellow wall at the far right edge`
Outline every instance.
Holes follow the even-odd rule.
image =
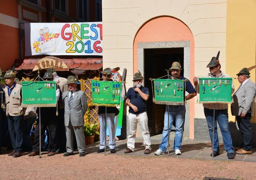
[[[226,71],[236,77],[242,68],[256,64],[256,0],[227,0]],[[255,69],[251,80],[256,81]],[[235,89],[240,85],[234,80]],[[231,116],[230,121],[235,121]],[[255,116],[251,122],[256,122]]]

